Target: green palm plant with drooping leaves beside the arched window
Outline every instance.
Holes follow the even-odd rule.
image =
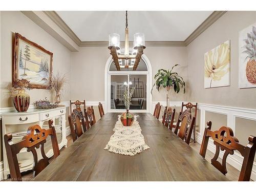
[[[183,88],[184,93],[186,92],[185,89],[185,82],[181,76],[178,75],[177,72],[173,72],[173,69],[179,66],[176,64],[172,67],[171,70],[164,70],[160,69],[158,70],[157,74],[155,75],[156,82],[154,83],[152,90],[154,86],[156,86],[157,90],[159,91],[159,88],[162,86],[163,88],[166,88],[166,106],[169,106],[169,90],[172,87],[176,93],[179,93],[180,90]],[[151,90],[151,94],[152,94]]]

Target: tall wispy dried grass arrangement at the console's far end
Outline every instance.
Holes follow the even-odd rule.
[[[60,91],[64,89],[65,84],[67,83],[67,77],[66,74],[59,74],[52,75],[52,80],[48,81],[48,89],[53,90],[56,92],[56,102],[60,102]]]

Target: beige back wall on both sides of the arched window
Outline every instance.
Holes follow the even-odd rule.
[[[178,63],[177,72],[186,81],[186,47],[146,47],[144,54],[152,65],[153,77],[158,69],[169,69]],[[106,47],[80,47],[79,52],[72,53],[71,98],[91,101],[104,100],[104,69],[110,57]],[[154,79],[153,79],[153,82]],[[82,88],[82,89],[78,89]],[[150,93],[148,93],[150,94]],[[153,89],[153,101],[165,101],[165,90],[160,93]],[[171,92],[173,101],[186,100],[186,94]]]

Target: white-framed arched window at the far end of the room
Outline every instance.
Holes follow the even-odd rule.
[[[129,60],[130,63],[133,60]],[[105,110],[110,112],[123,112],[125,109],[123,94],[125,86],[135,87],[130,105],[131,112],[151,112],[152,96],[152,69],[147,57],[143,54],[142,59],[135,71],[133,68],[122,68],[117,71],[113,59],[110,57],[105,66]],[[106,71],[107,70],[107,71]]]

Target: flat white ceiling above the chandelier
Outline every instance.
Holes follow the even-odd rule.
[[[130,40],[144,33],[146,41],[184,41],[213,11],[128,11]],[[125,11],[56,11],[81,41],[124,40]]]

